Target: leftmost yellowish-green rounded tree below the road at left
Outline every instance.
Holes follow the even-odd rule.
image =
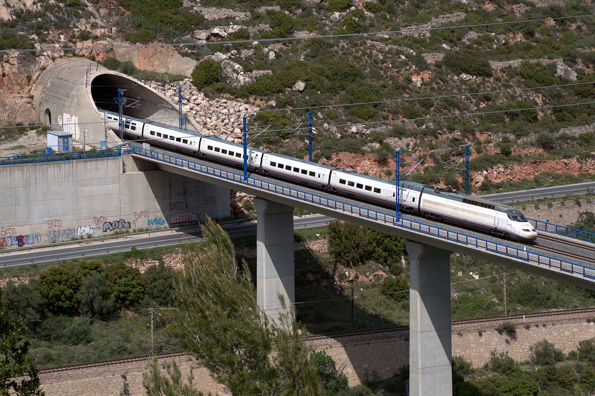
[[[35,287],[50,312],[69,315],[78,308],[76,296],[80,281],[80,274],[74,268],[53,266],[39,275]]]

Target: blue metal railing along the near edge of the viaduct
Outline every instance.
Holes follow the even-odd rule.
[[[140,147],[131,147],[131,151],[134,154],[142,157],[173,164],[175,166],[193,170],[195,172],[205,173],[206,175],[214,176],[216,178],[231,180],[233,182],[245,184],[253,188],[262,189],[264,191],[273,192],[274,194],[308,202],[309,204],[340,210],[350,213],[354,216],[379,221],[384,224],[391,224],[393,227],[399,227],[425,235],[434,236],[440,239],[446,239],[450,242],[455,242],[460,245],[472,246],[478,250],[522,260],[528,264],[536,264],[540,266],[543,265],[545,267],[553,268],[565,273],[577,274],[584,278],[595,280],[595,268],[586,267],[584,265],[575,264],[573,262],[553,258],[550,256],[540,255],[534,252],[528,252],[518,248],[513,248],[512,246],[503,245],[502,243],[490,242],[486,239],[468,236],[458,232],[442,229],[440,227],[429,226],[428,224],[419,223],[418,221],[397,218],[391,214],[369,210],[357,205],[346,204],[342,201],[321,197],[320,195],[310,194],[286,186],[280,186],[250,177],[245,178],[243,175],[239,175],[238,173],[228,172],[226,170],[221,170],[212,166],[181,159],[179,157],[171,156],[170,154],[158,153],[156,151],[151,151]]]

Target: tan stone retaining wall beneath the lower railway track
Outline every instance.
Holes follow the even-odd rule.
[[[483,366],[491,357],[491,351],[507,352],[518,362],[530,358],[529,347],[541,340],[548,340],[564,353],[576,350],[578,342],[595,337],[595,322],[575,319],[552,324],[531,324],[528,328],[519,325],[516,329],[516,340],[506,341],[506,335],[500,335],[494,328],[482,330],[464,330],[452,334],[452,354],[461,356],[471,362],[474,367]],[[358,335],[342,338],[323,338],[310,341],[314,350],[324,350],[333,357],[337,367],[343,369],[349,378],[349,385],[362,384],[367,374],[377,373],[380,379],[392,376],[397,370],[408,364],[409,337],[408,330],[387,332],[381,335]],[[176,359],[184,376],[194,366],[188,357]],[[138,367],[140,366],[140,367]],[[43,378],[42,388],[47,396],[105,396],[118,395],[125,375],[130,384],[132,395],[144,395],[142,373],[144,365],[132,368],[114,369],[105,366],[96,373],[81,374],[68,378]],[[193,368],[195,384],[204,392],[218,392],[226,395],[224,388],[215,383],[206,369]]]

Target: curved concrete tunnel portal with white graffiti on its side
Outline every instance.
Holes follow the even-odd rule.
[[[111,71],[86,59],[58,59],[48,66],[33,85],[37,122],[53,130],[71,132],[73,140],[99,147],[100,140],[120,142],[106,130],[99,110],[118,111],[115,100],[123,88],[126,104],[123,115],[151,119],[172,126],[179,125],[176,106],[157,91],[126,74]],[[186,127],[199,131],[192,119]],[[86,136],[84,136],[86,130]]]

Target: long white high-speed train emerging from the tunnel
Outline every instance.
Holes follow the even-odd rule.
[[[119,131],[117,113],[104,112],[104,119],[109,128]],[[126,137],[243,167],[243,145],[127,116],[123,121]],[[248,169],[253,172],[394,208],[394,182],[254,147],[246,153]],[[537,238],[537,230],[515,208],[415,182],[400,181],[399,191],[402,211],[522,242]]]

